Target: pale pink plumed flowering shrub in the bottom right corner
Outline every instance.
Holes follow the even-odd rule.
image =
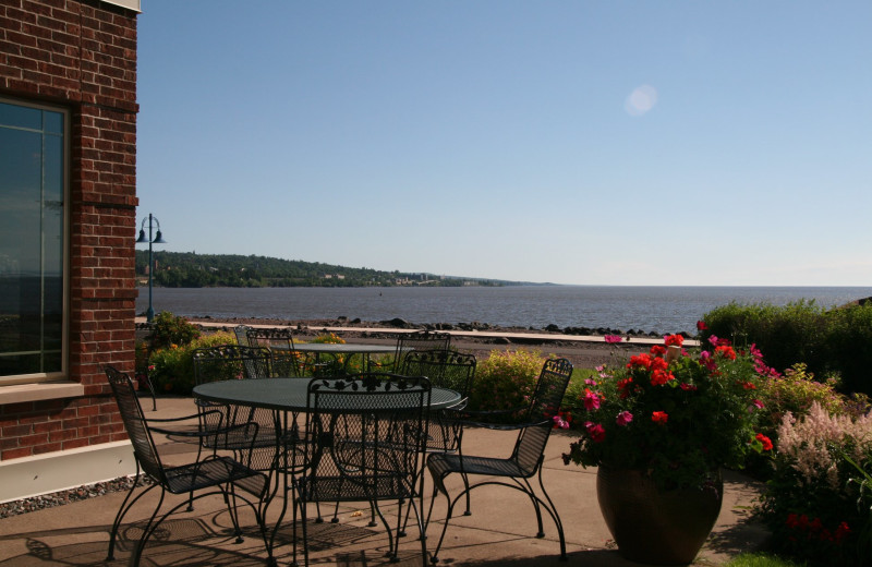
[[[814,565],[868,565],[872,415],[833,414],[818,401],[804,418],[788,412],[774,461],[759,511],[776,551]]]

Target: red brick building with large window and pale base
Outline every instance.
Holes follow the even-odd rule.
[[[140,0],[0,0],[0,502],[133,471]]]

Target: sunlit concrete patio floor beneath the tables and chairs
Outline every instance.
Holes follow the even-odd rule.
[[[166,418],[191,413],[190,398],[158,398],[158,411],[150,409],[150,399],[143,406],[148,417]],[[472,516],[456,512],[439,553],[439,565],[533,567],[579,565],[588,567],[631,567],[639,564],[621,558],[610,540],[596,500],[596,471],[566,467],[561,454],[571,435],[555,432],[546,450],[546,486],[557,504],[567,540],[569,562],[559,560],[559,544],[554,523],[544,518],[545,538],[536,539],[535,515],[526,497],[518,491],[486,486],[472,493]],[[469,454],[506,456],[514,435],[505,432],[472,430],[464,436]],[[193,458],[193,447],[162,439],[168,461]],[[432,486],[432,484],[429,484]],[[718,566],[741,552],[759,548],[765,540],[763,528],[750,519],[750,508],[760,484],[749,478],[725,474],[724,504],[717,523],[694,566]],[[87,500],[43,509],[0,520],[0,567],[36,567],[60,565],[126,565],[140,534],[137,522],[147,519],[154,509],[158,491],[152,491],[128,515],[121,529],[116,559],[107,562],[106,551],[114,515],[124,498],[123,492],[110,493]],[[429,493],[429,488],[426,490]],[[165,507],[181,502],[168,496]],[[276,506],[274,506],[276,508]],[[331,506],[328,506],[331,508]],[[143,566],[255,566],[264,565],[266,551],[251,509],[241,507],[245,541],[235,543],[223,502],[218,496],[197,500],[193,512],[179,512],[168,519],[149,540],[143,554]],[[388,520],[396,517],[396,505],[384,506]],[[290,512],[289,512],[290,514]],[[327,514],[325,511],[325,514]],[[445,498],[434,509],[434,521],[427,535],[428,547],[435,545],[446,514]],[[275,521],[271,510],[268,521]],[[339,523],[308,526],[311,564],[337,567],[388,565],[384,557],[387,535],[379,526],[367,527],[368,507],[358,504],[340,507]],[[291,562],[291,527],[286,520],[274,553],[279,565]],[[302,563],[302,557],[301,557]],[[417,531],[410,526],[402,539],[400,562],[390,565],[420,566]]]

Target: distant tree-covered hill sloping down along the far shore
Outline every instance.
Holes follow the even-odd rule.
[[[154,252],[154,285],[205,287],[506,286],[517,282],[349,268],[267,256]],[[148,252],[136,251],[136,277],[148,282]]]

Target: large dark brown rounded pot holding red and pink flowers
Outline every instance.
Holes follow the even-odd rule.
[[[720,512],[724,482],[663,491],[635,470],[600,467],[596,496],[606,526],[626,559],[687,565],[705,543]]]

